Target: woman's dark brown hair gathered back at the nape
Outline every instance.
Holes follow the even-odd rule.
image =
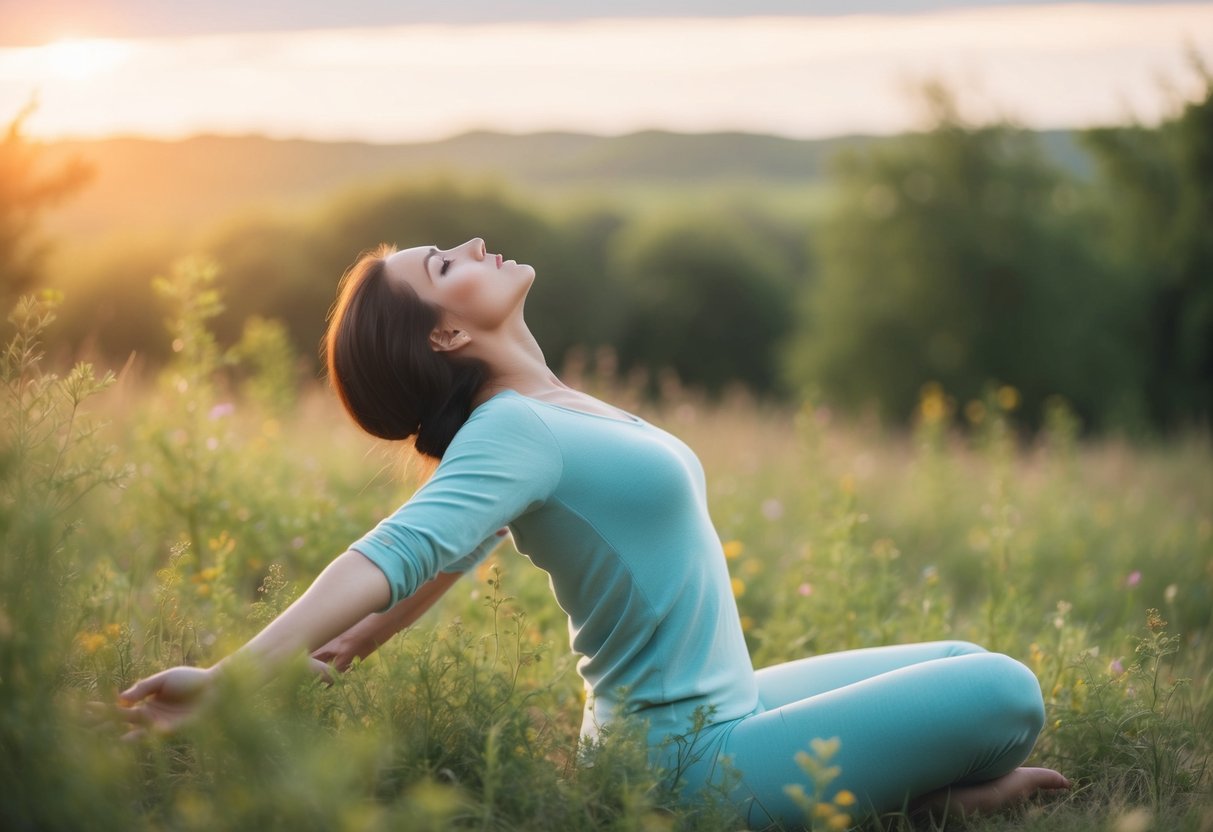
[[[360,428],[382,439],[415,435],[418,452],[440,460],[488,367],[433,351],[429,334],[442,309],[387,279],[394,251],[380,245],[341,278],[324,338],[329,382]]]

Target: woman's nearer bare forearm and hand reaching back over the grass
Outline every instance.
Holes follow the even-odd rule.
[[[223,668],[239,662],[266,676],[292,655],[313,650],[383,609],[391,588],[383,572],[354,551],[341,554],[247,644],[207,669],[172,667],[119,695],[126,719],[169,730],[188,719]]]

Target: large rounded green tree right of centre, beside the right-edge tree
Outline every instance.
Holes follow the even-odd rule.
[[[970,127],[947,90],[926,93],[933,129],[836,159],[791,380],[892,421],[928,382],[962,399],[1009,383],[1030,412],[1054,393],[1088,418],[1132,409],[1127,295],[1089,243],[1077,183],[1030,132]]]

